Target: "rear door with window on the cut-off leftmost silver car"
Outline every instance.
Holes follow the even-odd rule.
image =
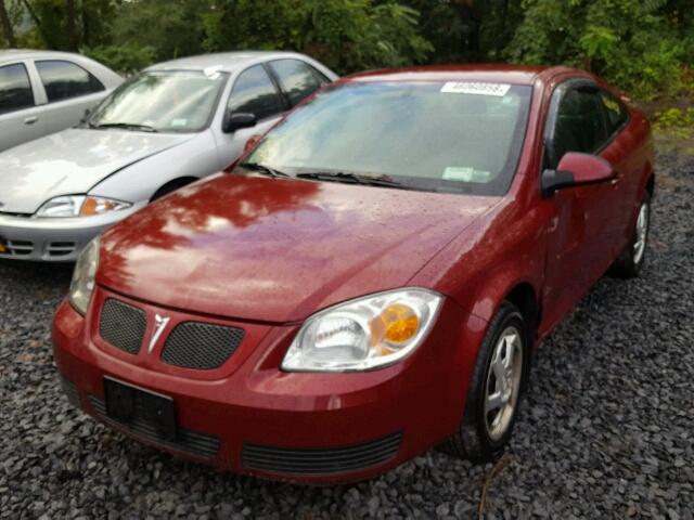
[[[46,92],[44,134],[77,125],[106,90],[94,75],[66,60],[36,60],[34,66]]]

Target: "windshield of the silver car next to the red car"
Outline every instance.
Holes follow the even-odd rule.
[[[219,72],[145,72],[108,95],[87,120],[90,128],[198,132],[206,128],[227,81]]]

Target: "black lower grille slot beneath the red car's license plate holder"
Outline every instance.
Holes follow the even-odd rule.
[[[137,418],[130,424],[120,422],[106,416],[106,405],[101,399],[95,395],[89,395],[87,399],[101,420],[106,424],[116,425],[133,437],[204,458],[214,458],[219,451],[219,439],[215,435],[178,428],[175,441],[164,440],[157,434],[156,429],[149,421]]]

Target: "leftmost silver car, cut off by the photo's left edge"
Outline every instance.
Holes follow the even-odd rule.
[[[77,125],[120,83],[79,54],[0,51],[0,152]]]

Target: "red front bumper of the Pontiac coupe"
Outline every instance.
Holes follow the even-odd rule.
[[[284,373],[279,365],[298,325],[230,323],[117,296],[147,315],[142,348],[131,354],[99,333],[99,312],[113,297],[99,288],[86,318],[67,302],[55,314],[55,361],[75,405],[178,456],[307,483],[370,478],[450,435],[460,425],[471,361],[486,325],[474,316],[461,322],[461,310],[447,300],[426,342],[398,364],[367,373]],[[156,314],[170,317],[169,330],[205,320],[244,327],[246,337],[217,369],[174,367],[162,361],[160,344],[149,348]],[[164,440],[144,422],[107,417],[105,376],[172,398],[177,438]]]

